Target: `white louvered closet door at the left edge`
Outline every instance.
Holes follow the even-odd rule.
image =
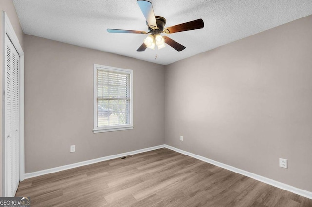
[[[20,182],[20,56],[5,36],[5,196],[14,196]]]

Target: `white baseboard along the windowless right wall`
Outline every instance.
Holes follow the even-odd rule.
[[[178,149],[178,148],[175,148],[175,147],[172,147],[172,146],[169,146],[169,145],[166,145],[166,144],[165,144],[165,148],[168,148],[168,149],[170,149],[170,150],[174,150],[174,151],[176,151],[176,152],[178,152],[178,153],[181,153],[181,154],[184,154],[184,155],[188,155],[188,156],[194,157],[194,158],[196,158],[196,159],[199,159],[199,160],[201,160],[201,161],[204,161],[204,162],[207,162],[207,163],[216,165],[216,166],[218,166],[218,167],[227,169],[227,170],[229,170],[229,171],[232,171],[232,172],[235,172],[235,173],[239,173],[239,174],[245,175],[245,176],[247,176],[247,177],[253,178],[253,179],[255,179],[255,180],[258,180],[258,181],[261,181],[261,182],[263,182],[263,183],[269,184],[269,185],[271,185],[271,186],[275,186],[275,187],[277,187],[277,188],[280,188],[280,189],[283,189],[283,190],[287,190],[287,191],[290,191],[290,192],[292,192],[292,193],[301,195],[301,196],[303,196],[303,197],[312,199],[312,192],[309,192],[309,191],[307,191],[307,190],[298,189],[298,188],[296,188],[296,187],[287,185],[287,184],[285,184],[285,183],[281,183],[281,182],[278,182],[278,181],[276,181],[276,180],[272,180],[272,179],[270,179],[270,178],[263,177],[263,176],[261,176],[261,175],[257,175],[257,174],[254,174],[254,173],[250,173],[250,172],[248,172],[248,171],[244,171],[244,170],[235,168],[235,167],[233,167],[233,166],[226,165],[226,164],[223,164],[223,163],[221,163],[221,162],[217,162],[217,161],[212,160],[212,159],[208,159],[208,158],[203,157],[203,156],[195,155],[195,154],[193,154],[193,153],[189,153],[189,152],[187,152],[187,151],[180,150],[180,149]]]

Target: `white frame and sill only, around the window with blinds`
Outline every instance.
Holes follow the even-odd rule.
[[[97,127],[97,70],[101,68],[105,71],[111,72],[123,72],[130,74],[130,113],[129,113],[129,123],[117,126],[105,126],[105,127]],[[111,132],[111,131],[119,131],[119,130],[128,130],[133,129],[133,70],[131,69],[121,69],[111,66],[104,66],[99,64],[93,64],[93,133],[100,132]]]

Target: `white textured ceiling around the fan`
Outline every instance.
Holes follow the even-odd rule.
[[[202,18],[204,28],[168,34],[186,47],[137,52],[147,30],[137,0],[13,0],[25,34],[167,65],[312,14],[312,0],[150,0],[166,26]],[[157,58],[155,56],[157,55]]]

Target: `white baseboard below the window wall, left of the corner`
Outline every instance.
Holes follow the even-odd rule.
[[[46,169],[46,170],[42,170],[42,171],[36,171],[36,172],[32,172],[32,173],[26,173],[25,174],[25,179],[31,178],[31,177],[37,177],[37,176],[44,175],[44,174],[49,174],[49,173],[56,173],[56,172],[59,172],[59,171],[64,171],[64,170],[68,170],[68,169],[72,169],[72,168],[77,168],[77,167],[84,166],[84,165],[90,165],[90,164],[93,164],[93,163],[102,162],[102,161],[106,161],[106,160],[110,160],[110,159],[116,159],[116,158],[123,157],[123,156],[135,155],[135,154],[138,154],[138,153],[144,153],[144,152],[148,152],[148,151],[151,151],[151,150],[156,150],[156,149],[160,149],[160,148],[164,148],[164,147],[165,147],[165,145],[158,145],[158,146],[155,146],[155,147],[144,148],[144,149],[141,149],[141,150],[135,150],[135,151],[121,153],[121,154],[117,154],[117,155],[110,155],[110,156],[100,157],[100,158],[97,158],[97,159],[91,159],[91,160],[87,160],[87,161],[83,161],[83,162],[77,162],[77,163],[74,163],[74,164],[63,165],[63,166],[50,168],[50,169]]]

